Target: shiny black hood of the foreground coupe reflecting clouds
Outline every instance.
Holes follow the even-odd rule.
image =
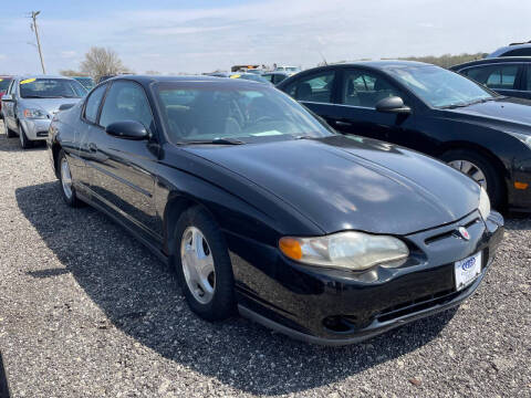
[[[478,207],[479,186],[468,177],[415,151],[356,136],[186,150],[267,189],[325,233],[407,234]]]

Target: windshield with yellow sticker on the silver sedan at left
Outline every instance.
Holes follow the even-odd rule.
[[[87,93],[73,78],[25,78],[20,82],[22,98],[81,98]]]

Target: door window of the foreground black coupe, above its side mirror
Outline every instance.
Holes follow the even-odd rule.
[[[139,122],[153,132],[153,114],[144,90],[133,82],[114,82],[103,104],[100,124],[107,127],[115,122]]]

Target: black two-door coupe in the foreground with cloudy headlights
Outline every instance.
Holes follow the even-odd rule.
[[[503,233],[462,174],[339,135],[270,85],[115,77],[50,130],[66,203],[175,266],[206,320],[358,342],[468,297]]]

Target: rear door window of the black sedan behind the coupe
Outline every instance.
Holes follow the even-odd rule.
[[[326,71],[311,76],[305,76],[290,84],[285,92],[298,101],[316,103],[332,103],[332,90],[335,72]]]

